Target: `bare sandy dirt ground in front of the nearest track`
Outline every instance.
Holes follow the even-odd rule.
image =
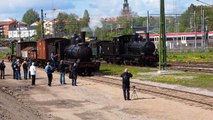
[[[10,64],[7,63],[6,79],[0,79],[0,120],[213,119],[212,110],[144,93],[124,101],[121,88],[85,78],[78,79],[78,86],[71,86],[66,77],[67,84],[60,85],[59,74],[54,73],[49,87],[43,69],[37,69],[36,86],[31,86],[31,80],[12,79]]]

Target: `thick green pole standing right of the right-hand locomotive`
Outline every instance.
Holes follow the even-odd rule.
[[[164,0],[160,1],[160,51],[159,51],[159,69],[165,70],[166,62],[166,28],[165,28],[165,8]]]

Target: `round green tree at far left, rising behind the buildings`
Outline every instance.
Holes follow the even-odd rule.
[[[26,11],[26,13],[22,18],[22,21],[27,23],[28,25],[31,25],[32,23],[39,21],[39,19],[40,19],[39,14],[31,8]]]

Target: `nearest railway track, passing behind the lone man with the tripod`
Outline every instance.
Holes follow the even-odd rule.
[[[87,77],[87,79],[108,85],[121,86],[121,80],[119,79],[108,78],[103,76]],[[131,86],[136,86],[137,91],[142,93],[152,94],[155,96],[184,102],[189,105],[199,106],[204,109],[213,110],[213,96],[188,92],[184,90],[176,90],[172,88],[148,85],[138,82],[131,82]]]

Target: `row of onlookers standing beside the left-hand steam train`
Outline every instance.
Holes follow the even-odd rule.
[[[4,61],[2,60],[2,64],[4,64]],[[0,64],[1,65],[1,64]],[[32,79],[32,85],[35,85],[36,81],[36,66],[35,63],[30,60],[24,60],[24,62],[21,64],[19,59],[14,60],[11,64],[12,70],[13,70],[13,79],[21,80],[21,67],[23,69],[24,73],[24,79],[27,80]],[[4,67],[5,68],[5,67]],[[48,86],[52,85],[52,79],[53,79],[53,72],[55,71],[54,64],[51,65],[50,62],[47,62],[47,65],[45,66],[45,72],[47,74],[48,78]],[[65,73],[66,73],[66,65],[64,64],[64,61],[61,60],[59,64],[59,71],[60,71],[60,84],[66,84],[65,82]],[[1,73],[4,73],[4,69],[1,69]],[[72,73],[72,85],[77,86],[77,63],[74,63],[73,66],[70,67],[70,73]],[[4,74],[1,74],[4,76]],[[29,76],[29,77],[28,77]],[[4,77],[1,77],[4,78]]]

